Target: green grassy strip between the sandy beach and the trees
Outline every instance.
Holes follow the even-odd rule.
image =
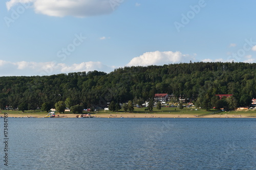
[[[21,114],[27,114],[28,116],[33,115],[33,116],[45,116],[48,114],[48,112],[42,112],[41,110],[28,110],[25,112],[22,111],[13,111],[13,110],[0,110],[0,115],[3,115],[4,113],[8,114],[14,114],[14,115],[21,115]],[[87,113],[87,112],[84,112]],[[91,114],[95,115],[101,115],[101,114],[131,114],[129,112],[125,113],[123,110],[119,110],[118,112],[112,112],[112,111],[105,111],[105,110],[97,110],[94,112],[90,112]],[[226,112],[217,112],[215,109],[211,109],[210,111],[206,111],[204,109],[197,109],[195,108],[184,108],[184,109],[179,109],[179,108],[169,108],[169,107],[162,107],[161,110],[157,110],[156,108],[153,108],[152,112],[145,111],[145,108],[134,108],[134,111],[132,114],[145,114],[145,113],[150,113],[150,114],[186,114],[186,115],[198,115],[204,116],[204,115],[222,115],[222,114],[230,114],[230,115],[243,115],[243,116],[248,116],[248,117],[256,117],[256,110],[245,110],[245,111],[226,111]],[[65,114],[73,114],[72,112],[65,112]],[[61,114],[60,114],[61,115]],[[77,115],[77,114],[76,114]]]

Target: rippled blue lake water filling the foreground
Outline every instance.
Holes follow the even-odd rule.
[[[254,118],[8,118],[8,167],[3,123],[0,169],[256,169]]]

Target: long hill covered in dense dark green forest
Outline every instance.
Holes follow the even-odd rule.
[[[109,74],[89,71],[42,77],[0,77],[0,107],[16,108],[27,103],[29,109],[35,109],[45,102],[54,106],[67,98],[72,105],[104,106],[111,101],[145,101],[155,93],[198,100],[198,105],[210,105],[215,94],[233,94],[238,106],[247,106],[256,98],[255,68],[255,63],[197,62],[124,67]]]

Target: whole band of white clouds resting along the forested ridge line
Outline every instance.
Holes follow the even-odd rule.
[[[148,66],[148,65],[164,65],[164,64],[174,64],[174,63],[189,63],[197,62],[195,58],[196,54],[187,55],[181,52],[146,52],[139,57],[133,58],[125,66]],[[252,55],[245,56],[243,62],[252,63],[255,59]],[[203,59],[202,62],[232,62],[226,61],[221,58],[219,59]],[[124,66],[124,65],[123,65]],[[121,66],[119,66],[121,67]],[[57,61],[52,62],[28,62],[28,61],[18,61],[10,62],[0,60],[0,76],[50,76],[61,73],[69,72],[81,72],[81,71],[104,71],[111,72],[114,71],[117,66],[105,65],[102,62],[81,62],[74,64],[58,63]]]

